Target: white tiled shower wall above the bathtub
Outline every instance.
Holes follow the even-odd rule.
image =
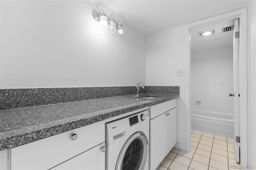
[[[233,81],[233,57],[191,61],[191,108],[233,114]]]

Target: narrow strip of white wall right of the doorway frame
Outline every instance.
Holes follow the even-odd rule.
[[[248,164],[256,167],[256,1],[252,0],[248,12]]]

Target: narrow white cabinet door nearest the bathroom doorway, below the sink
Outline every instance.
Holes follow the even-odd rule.
[[[176,108],[164,113],[166,117],[166,154],[176,144]]]

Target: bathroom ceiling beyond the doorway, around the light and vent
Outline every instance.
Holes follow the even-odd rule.
[[[191,31],[191,51],[203,51],[233,45],[234,31],[222,32],[222,27],[234,25],[234,20],[219,22],[216,24],[200,27]],[[213,29],[215,33],[201,37],[200,31]]]

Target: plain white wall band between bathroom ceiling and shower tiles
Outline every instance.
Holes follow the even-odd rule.
[[[191,43],[196,42],[191,41]],[[233,56],[233,46],[226,46],[202,51],[192,51],[191,49],[191,61],[198,59],[209,59],[229,56]]]

